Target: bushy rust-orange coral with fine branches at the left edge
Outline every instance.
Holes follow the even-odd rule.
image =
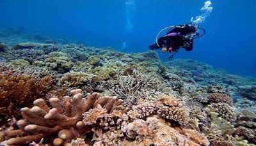
[[[0,74],[0,119],[1,122],[19,115],[19,109],[31,106],[52,87],[51,77],[38,80],[30,75]]]

